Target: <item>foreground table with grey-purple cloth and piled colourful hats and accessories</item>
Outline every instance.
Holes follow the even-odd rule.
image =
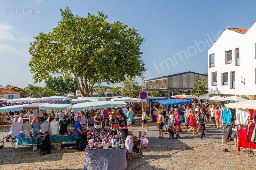
[[[115,137],[110,128],[86,129],[89,145],[85,149],[84,169],[123,170],[127,167],[124,140]]]

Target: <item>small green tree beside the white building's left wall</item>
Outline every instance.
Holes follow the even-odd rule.
[[[202,95],[205,94],[206,88],[205,88],[205,82],[202,77],[197,76],[195,79],[195,82],[193,84],[193,88],[190,90],[190,94],[192,95]]]

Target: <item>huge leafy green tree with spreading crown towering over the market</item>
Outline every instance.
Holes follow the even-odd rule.
[[[73,15],[68,7],[50,33],[39,33],[30,42],[29,62],[35,83],[52,74],[74,76],[84,96],[95,84],[119,83],[126,76],[139,76],[144,69],[140,46],[143,38],[137,30],[120,21],[108,23],[108,16],[88,13]]]

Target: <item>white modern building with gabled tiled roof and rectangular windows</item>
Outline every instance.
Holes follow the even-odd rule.
[[[209,95],[256,100],[256,23],[228,28],[208,50]]]

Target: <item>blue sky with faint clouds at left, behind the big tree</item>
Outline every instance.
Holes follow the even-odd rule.
[[[29,42],[40,32],[51,32],[60,20],[59,9],[66,6],[80,16],[102,11],[108,22],[136,28],[145,39],[145,79],[207,72],[207,50],[214,37],[227,27],[249,28],[256,21],[255,1],[1,1],[0,85],[33,84]]]

